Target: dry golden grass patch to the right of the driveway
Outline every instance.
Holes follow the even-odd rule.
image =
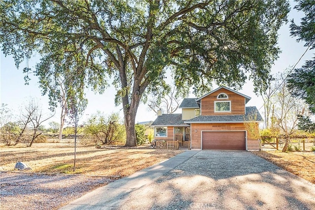
[[[275,165],[315,184],[314,152],[252,151]]]

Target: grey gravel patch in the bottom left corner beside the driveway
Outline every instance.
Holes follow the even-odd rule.
[[[54,210],[112,180],[0,172],[0,210]]]

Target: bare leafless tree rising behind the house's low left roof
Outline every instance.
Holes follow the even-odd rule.
[[[148,106],[149,110],[153,110],[156,114],[158,114],[158,109],[161,108],[162,110],[165,110],[167,114],[174,113],[179,105],[180,100],[176,97],[176,91],[175,87],[169,91],[167,95],[164,95],[162,97],[159,96],[153,96],[148,100]]]

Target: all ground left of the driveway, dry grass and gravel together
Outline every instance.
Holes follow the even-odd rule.
[[[183,150],[154,150],[78,145],[73,172],[73,143],[0,146],[0,209],[57,210],[87,192],[168,159]],[[22,161],[32,170],[13,172]],[[76,174],[73,175],[72,174]],[[26,193],[27,192],[27,193]]]

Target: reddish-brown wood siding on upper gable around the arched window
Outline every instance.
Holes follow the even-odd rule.
[[[228,98],[217,99],[220,93],[225,93]],[[231,101],[230,112],[215,112],[215,101]],[[201,115],[244,115],[245,97],[232,91],[220,89],[201,99]]]

